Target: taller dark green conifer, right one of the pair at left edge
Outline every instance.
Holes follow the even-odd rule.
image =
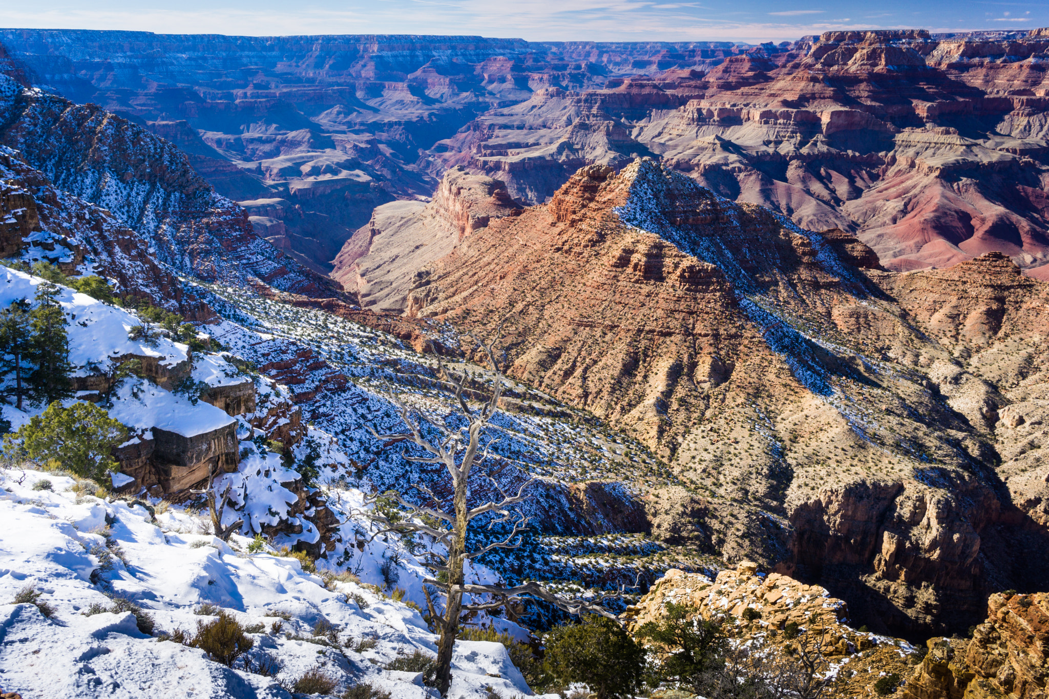
[[[57,300],[61,292],[50,282],[41,284],[37,287],[37,305],[29,311],[33,321],[30,359],[37,365],[29,374],[29,386],[33,397],[44,405],[72,395],[66,318]]]

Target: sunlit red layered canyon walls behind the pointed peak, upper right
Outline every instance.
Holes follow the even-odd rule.
[[[892,269],[990,250],[1033,269],[1049,260],[1047,49],[1037,32],[832,31],[708,70],[536,91],[431,152],[536,202],[576,168],[654,154],[722,196],[854,233]]]

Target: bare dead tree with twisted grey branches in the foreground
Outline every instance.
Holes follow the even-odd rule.
[[[499,397],[502,394],[504,377],[499,369],[499,364],[495,358],[495,342],[493,340],[487,345],[478,343],[494,374],[491,394],[484,400],[479,408],[471,408],[467,401],[467,389],[464,385],[465,374],[464,376],[456,376],[452,373],[441,356],[436,355],[434,351],[441,377],[450,384],[454,390],[456,412],[463,420],[459,427],[450,425],[447,420],[431,420],[420,412],[416,412],[413,416],[412,412],[390,392],[388,397],[397,406],[400,417],[405,425],[407,425],[410,434],[394,433],[381,435],[374,430],[371,431],[377,439],[386,442],[411,442],[428,455],[410,456],[404,453],[403,458],[407,461],[444,465],[448,472],[448,476],[451,478],[452,511],[446,512],[442,508],[437,498],[425,485],[415,485],[414,487],[426,496],[426,505],[408,502],[398,493],[385,494],[385,497],[394,499],[402,507],[407,509],[407,518],[405,520],[394,522],[377,509],[359,511],[359,514],[365,515],[372,522],[383,527],[372,538],[385,531],[412,534],[422,532],[432,537],[434,544],[441,544],[445,547],[446,552],[444,554],[430,551],[427,553],[426,560],[423,561],[423,564],[430,570],[447,574],[447,581],[432,578],[424,581],[424,583],[438,588],[446,599],[445,612],[441,615],[434,609],[433,603],[429,598],[429,593],[427,593],[429,614],[441,634],[436,660],[436,683],[441,696],[448,694],[448,687],[451,684],[452,651],[455,645],[455,636],[458,634],[459,616],[464,611],[479,611],[505,607],[508,604],[520,603],[522,600],[521,595],[532,595],[556,605],[572,614],[592,612],[619,621],[616,615],[602,607],[600,603],[608,597],[622,596],[624,591],[621,589],[617,593],[605,594],[591,599],[573,599],[555,595],[534,582],[528,582],[512,588],[504,588],[495,585],[466,584],[464,565],[468,560],[476,559],[496,548],[516,548],[520,546],[521,539],[519,534],[524,530],[528,518],[521,515],[519,510],[512,514],[508,508],[511,505],[522,502],[527,498],[524,495],[526,489],[537,480],[529,480],[517,488],[516,493],[508,494],[499,487],[495,479],[489,477],[489,480],[499,493],[501,499],[498,502],[486,502],[474,507],[468,505],[470,472],[474,466],[485,461],[488,457],[489,449],[496,441],[491,439],[485,445],[484,450],[480,447],[484,429],[498,412]],[[441,435],[440,440],[430,439],[423,434],[422,425],[424,423]],[[372,496],[368,501],[373,503],[379,497],[383,496]],[[489,527],[496,523],[511,522],[512,530],[501,541],[468,551],[466,538],[470,522],[483,515],[493,518],[489,522]],[[427,524],[427,522],[430,522],[430,524]],[[464,604],[464,595],[493,595],[495,600]]]

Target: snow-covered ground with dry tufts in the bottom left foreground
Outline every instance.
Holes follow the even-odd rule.
[[[43,480],[50,489],[35,489]],[[224,544],[198,533],[208,531],[204,520],[176,507],[153,522],[141,504],[78,494],[74,484],[37,471],[0,471],[0,691],[24,699],[276,699],[292,696],[278,680],[290,686],[320,667],[339,680],[335,696],[361,682],[397,699],[436,696],[421,676],[382,669],[399,655],[435,653],[436,637],[415,609],[372,586],[325,587],[296,559],[248,553],[249,539],[234,536]],[[361,555],[379,556],[370,550]],[[51,618],[33,604],[12,604],[30,585],[41,593],[38,602],[53,608]],[[131,612],[85,615],[92,604],[111,607],[104,591],[148,610],[153,636],[138,631]],[[192,634],[198,621],[212,620],[194,613],[202,604],[245,627],[261,625],[254,648],[233,669],[155,637],[177,629]],[[341,650],[304,640],[321,619],[338,629]],[[368,641],[351,650],[361,639],[373,639],[373,648]],[[282,665],[276,678],[240,669],[271,658]],[[453,677],[452,697],[480,699],[486,687],[507,699],[531,695],[499,643],[457,642]]]

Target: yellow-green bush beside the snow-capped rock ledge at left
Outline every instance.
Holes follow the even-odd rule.
[[[22,452],[42,463],[55,460],[78,476],[102,482],[106,471],[117,468],[112,447],[127,438],[127,428],[94,403],[63,408],[56,401],[3,440],[5,452]]]

